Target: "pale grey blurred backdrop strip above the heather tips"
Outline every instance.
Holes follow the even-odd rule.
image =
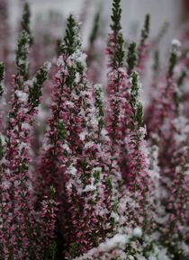
[[[22,0],[7,0],[11,18],[12,30],[16,31],[17,20],[22,10]],[[57,13],[65,19],[68,13],[76,13],[78,16],[87,14],[87,25],[85,26],[84,39],[86,44],[87,33],[92,26],[94,13],[98,10],[102,13],[103,26],[108,29],[111,13],[111,0],[29,0],[31,4],[31,24],[36,26],[36,21],[43,19],[47,13]],[[125,37],[136,38],[142,26],[146,13],[151,14],[151,37],[157,37],[164,22],[168,24],[168,30],[163,40],[168,43],[179,26],[187,17],[187,0],[122,0],[122,26]],[[82,13],[83,12],[83,13]],[[87,12],[87,13],[85,13]],[[85,17],[86,18],[86,17]],[[59,31],[57,31],[59,33]]]

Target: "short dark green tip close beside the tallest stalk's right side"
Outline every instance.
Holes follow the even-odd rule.
[[[128,65],[128,75],[132,73],[132,70],[137,64],[137,44],[136,42],[130,42],[130,46],[128,49],[128,54],[127,54],[127,65]]]

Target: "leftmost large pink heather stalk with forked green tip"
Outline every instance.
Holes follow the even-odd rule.
[[[27,259],[34,254],[32,249],[29,250],[29,247],[32,248],[32,243],[34,243],[32,236],[34,236],[33,222],[35,221],[31,204],[31,176],[28,172],[31,162],[30,132],[33,116],[37,113],[36,105],[39,103],[41,94],[39,88],[47,79],[47,73],[46,76],[41,76],[41,71],[48,70],[49,67],[45,65],[33,82],[26,82],[25,79],[28,77],[29,71],[28,47],[29,36],[26,31],[22,31],[16,53],[17,74],[14,76],[14,93],[10,102],[7,122],[1,184],[1,216],[3,219],[1,238],[4,259],[14,259],[15,257]],[[27,93],[28,86],[29,95]],[[35,91],[31,92],[33,88]],[[38,91],[37,94],[36,91]],[[35,95],[33,96],[33,94]],[[34,105],[28,101],[28,96]]]

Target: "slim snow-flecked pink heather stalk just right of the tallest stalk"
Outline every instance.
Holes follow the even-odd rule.
[[[128,137],[129,189],[134,201],[139,203],[134,219],[143,229],[148,227],[148,207],[151,189],[149,177],[148,152],[145,141],[146,130],[142,128],[143,108],[139,102],[139,76],[136,72],[131,76],[130,89],[130,133]]]

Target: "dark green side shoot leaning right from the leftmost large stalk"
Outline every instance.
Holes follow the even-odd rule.
[[[31,86],[29,87],[29,103],[32,108],[40,104],[41,88],[44,82],[48,79],[48,76],[49,63],[45,63],[42,67],[40,67],[32,81]]]

